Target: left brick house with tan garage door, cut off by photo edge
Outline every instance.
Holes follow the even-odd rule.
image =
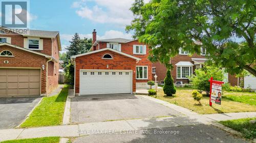
[[[59,32],[1,27],[0,97],[46,96],[58,87]]]

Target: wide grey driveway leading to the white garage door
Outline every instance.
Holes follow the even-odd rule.
[[[80,96],[71,99],[71,123],[181,115],[174,109],[131,94]]]

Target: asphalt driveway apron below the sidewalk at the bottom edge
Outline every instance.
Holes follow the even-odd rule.
[[[179,131],[179,133],[178,133]],[[164,134],[163,132],[167,133]],[[175,134],[176,132],[176,134]],[[163,129],[151,129],[145,133],[130,133],[126,134],[96,134],[82,136],[74,139],[73,143],[92,143],[92,142],[147,142],[147,143],[164,143],[164,142],[247,142],[240,138],[234,138],[214,126],[210,125],[195,125],[170,127]]]

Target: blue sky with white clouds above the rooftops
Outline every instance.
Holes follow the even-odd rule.
[[[129,10],[134,0],[30,0],[30,28],[59,31],[62,49],[69,45],[74,33],[81,37],[97,39],[127,38],[125,25],[130,24],[133,14]]]

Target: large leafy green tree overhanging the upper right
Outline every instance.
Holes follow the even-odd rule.
[[[136,0],[135,18],[126,31],[151,45],[149,59],[166,67],[179,48],[206,56],[231,74],[243,69],[256,76],[254,0]],[[242,41],[242,42],[239,42]]]

